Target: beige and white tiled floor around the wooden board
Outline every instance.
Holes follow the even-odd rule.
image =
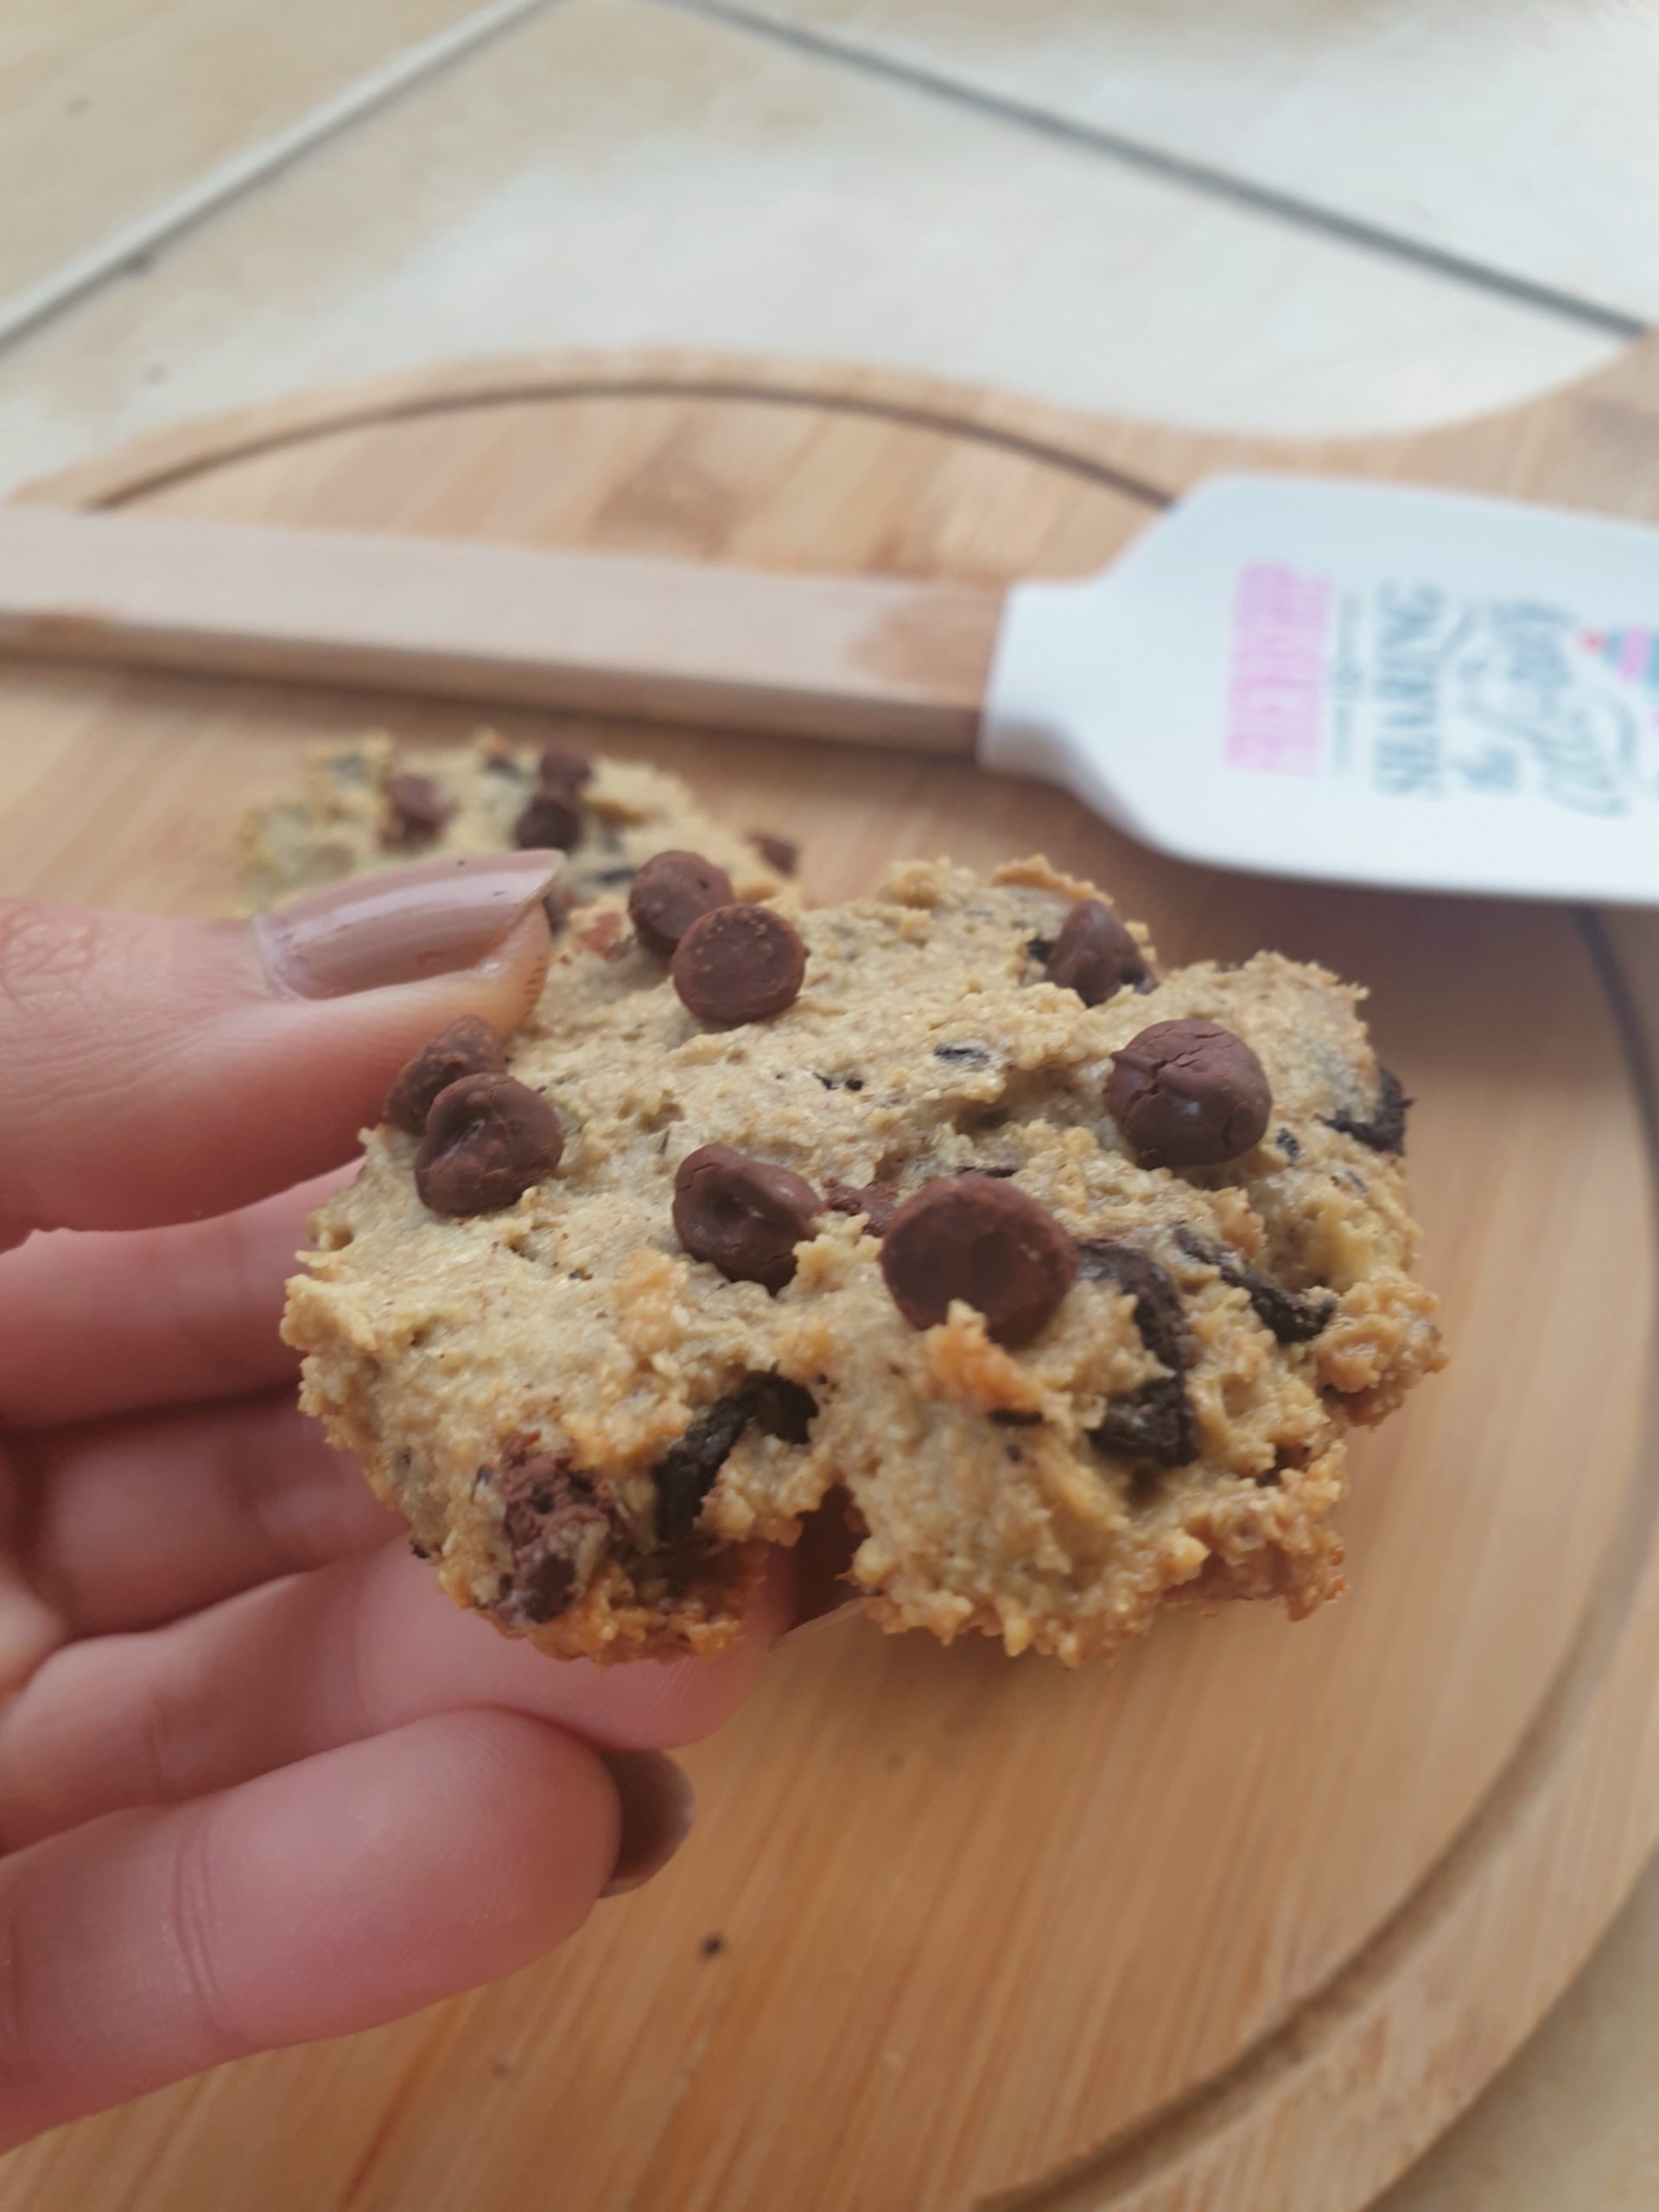
[[[7,0],[0,484],[573,343],[1464,416],[1659,314],[1657,84],[1659,0]],[[1659,1874],[1387,2208],[1657,2203]]]

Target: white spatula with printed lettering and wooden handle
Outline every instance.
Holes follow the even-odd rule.
[[[0,646],[975,754],[1188,860],[1659,905],[1659,533],[1217,478],[1068,584],[0,509]]]

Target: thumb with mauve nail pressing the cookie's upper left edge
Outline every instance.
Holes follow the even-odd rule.
[[[440,1029],[529,1013],[557,869],[427,860],[250,922],[0,900],[0,1250],[226,1212],[343,1161]]]

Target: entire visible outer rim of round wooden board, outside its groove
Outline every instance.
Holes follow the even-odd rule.
[[[1641,356],[1641,374],[1650,376],[1659,369],[1659,341],[1632,347],[1632,356]],[[1562,394],[1484,418],[1482,427],[1515,425],[1595,396],[1628,361]],[[239,458],[372,420],[606,392],[706,392],[710,398],[869,409],[1073,467],[1148,509],[1166,504],[1210,467],[1237,467],[1241,453],[1239,440],[1159,425],[1141,429],[949,378],[641,347],[456,363],[307,392],[159,431],[53,471],[13,498],[115,507]],[[1425,456],[1429,473],[1436,436],[1354,447],[1263,442],[1250,447],[1250,460],[1391,473],[1409,447]],[[1190,465],[1164,467],[1155,451],[1144,473],[1119,467],[1124,440],[1190,449]],[[1632,1033],[1632,998],[1619,989],[1606,951],[1601,969],[1613,982],[1615,1013],[1626,1018],[1626,1053],[1644,1097],[1648,1157],[1659,1175],[1641,1077],[1659,1040],[1646,1026]],[[1650,1203],[1657,1188],[1650,1183]],[[1066,2172],[980,2199],[984,2212],[1237,2212],[1245,2203],[1272,2203],[1274,2212],[1358,2212],[1489,2086],[1584,1964],[1659,1845],[1657,1455],[1659,1409],[1650,1407],[1632,1460],[1637,1480],[1626,1533],[1606,1562],[1562,1677],[1495,1790],[1391,1920],[1294,2020],[1223,2075]],[[1573,1838],[1573,1889],[1555,1900],[1546,1924],[1537,1898],[1551,1889],[1575,1807],[1590,1794],[1604,1807],[1617,1798],[1617,1814],[1604,1809],[1593,1858],[1584,1858]],[[1526,1916],[1524,1947],[1513,1940],[1517,1916]],[[1458,2004],[1478,1986],[1478,2004]],[[1504,2017],[1491,2004],[1493,1991],[1509,1997]],[[1378,2124],[1380,2112],[1387,2112],[1387,2130]]]

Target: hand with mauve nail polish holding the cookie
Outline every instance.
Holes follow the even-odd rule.
[[[768,1584],[712,1661],[509,1644],[294,1407],[292,1186],[438,1029],[524,1013],[553,867],[0,902],[0,2148],[560,1942],[672,1851],[661,1750],[781,1624]]]

